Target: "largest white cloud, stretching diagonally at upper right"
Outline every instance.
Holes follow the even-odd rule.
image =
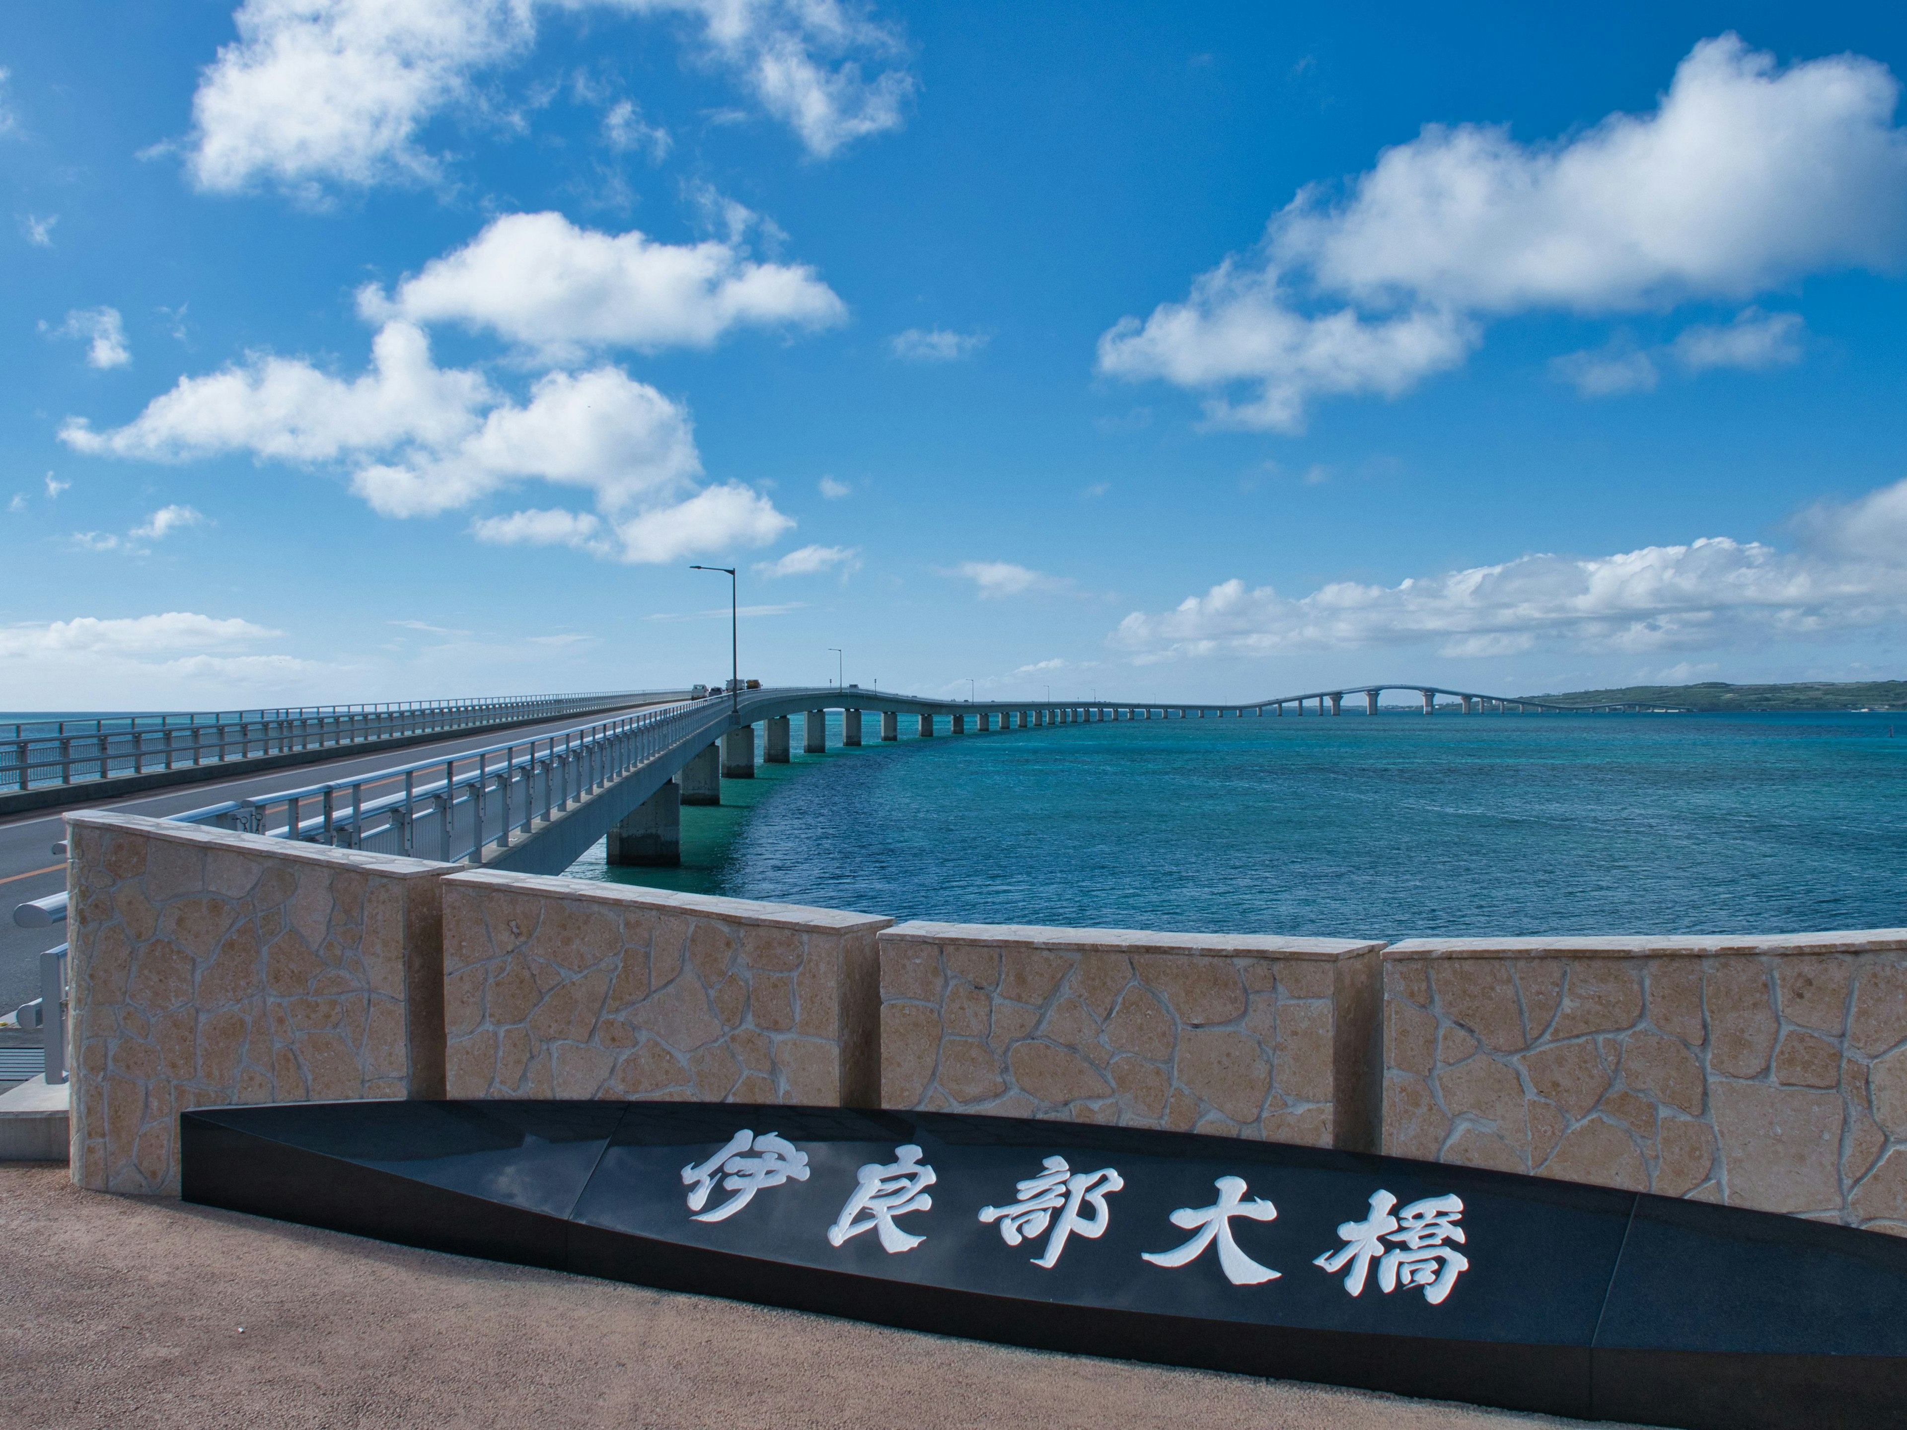
[[[1320,397],[1394,397],[1461,364],[1489,317],[1739,301],[1808,273],[1892,271],[1907,246],[1897,92],[1859,55],[1783,71],[1724,34],[1688,53],[1655,111],[1569,139],[1426,126],[1343,189],[1302,189],[1186,301],[1110,328],[1098,368],[1205,391],[1217,425],[1299,431]],[[1695,339],[1678,360],[1714,351]],[[1638,376],[1630,362],[1630,387]]]

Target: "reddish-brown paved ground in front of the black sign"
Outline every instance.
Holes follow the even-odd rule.
[[[0,1337],[6,1419],[59,1430],[1575,1424],[496,1266],[23,1163],[0,1165]]]

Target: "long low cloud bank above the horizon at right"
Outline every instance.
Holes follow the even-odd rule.
[[[1528,555],[1398,585],[1304,597],[1220,582],[1133,612],[1114,648],[1140,662],[1428,644],[1444,656],[1686,650],[1859,629],[1907,616],[1907,480],[1796,522],[1779,551],[1711,536],[1610,557]]]

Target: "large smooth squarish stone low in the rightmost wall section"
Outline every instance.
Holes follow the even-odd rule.
[[[1840,1098],[1833,1093],[1714,1083],[1730,1207],[1825,1211],[1840,1205]]]

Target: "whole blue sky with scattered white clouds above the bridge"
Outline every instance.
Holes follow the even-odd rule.
[[[1907,11],[19,4],[0,707],[1907,673]]]

